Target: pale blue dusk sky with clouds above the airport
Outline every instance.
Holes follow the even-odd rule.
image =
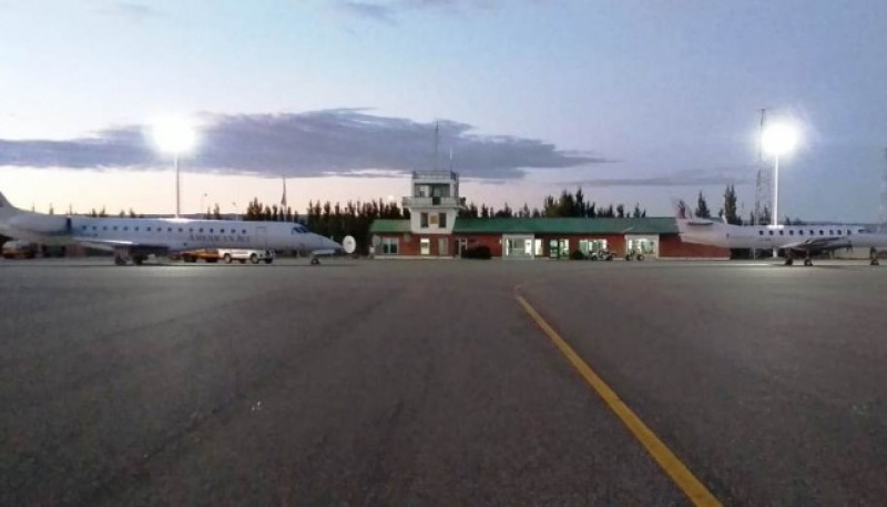
[[[671,215],[736,185],[762,108],[798,126],[781,214],[875,222],[887,172],[881,0],[0,0],[0,192],[20,207],[173,213],[157,119],[198,132],[182,211],[253,197],[463,196]],[[438,132],[438,155],[435,138]],[[450,153],[452,156],[450,158]]]

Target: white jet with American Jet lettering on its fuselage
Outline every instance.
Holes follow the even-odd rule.
[[[44,245],[81,244],[114,253],[114,264],[141,265],[149,255],[200,249],[297,250],[318,256],[343,250],[333,240],[292,222],[123,219],[49,215],[19,210],[0,193],[0,234]]]

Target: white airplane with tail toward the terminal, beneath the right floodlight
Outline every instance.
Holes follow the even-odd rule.
[[[812,266],[812,256],[820,252],[853,247],[869,249],[869,264],[879,265],[877,253],[887,250],[887,234],[865,225],[732,225],[693,216],[683,200],[675,202],[675,219],[681,241],[723,249],[781,249],[785,265],[804,256]]]

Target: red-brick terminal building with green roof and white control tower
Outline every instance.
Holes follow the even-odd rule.
[[[377,257],[459,257],[485,245],[493,257],[565,258],[610,251],[648,258],[728,258],[730,250],[684,243],[673,217],[554,219],[458,217],[465,207],[459,175],[452,171],[414,172],[404,197],[409,220],[377,220],[370,227]]]

